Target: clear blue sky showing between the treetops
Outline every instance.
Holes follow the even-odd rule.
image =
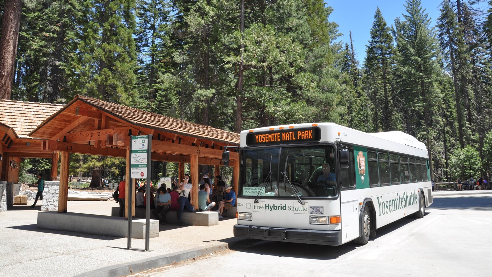
[[[338,40],[350,43],[349,31],[357,59],[362,64],[366,57],[366,45],[370,39],[370,28],[374,21],[374,13],[379,7],[388,26],[395,24],[395,18],[403,18],[405,0],[325,0],[334,10],[328,20],[338,24],[338,31],[343,34]],[[422,7],[431,18],[431,26],[439,17],[439,5],[442,0],[422,0]]]

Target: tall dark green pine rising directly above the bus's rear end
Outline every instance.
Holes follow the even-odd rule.
[[[407,0],[405,7],[405,21],[395,20],[398,86],[405,103],[405,130],[426,139],[429,159],[433,161],[431,142],[435,131],[431,130],[431,124],[435,102],[441,99],[437,80],[440,74],[437,40],[420,0]],[[430,168],[432,173],[432,163]]]

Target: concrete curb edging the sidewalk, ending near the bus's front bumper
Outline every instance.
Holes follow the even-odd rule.
[[[114,266],[108,266],[96,270],[92,270],[83,274],[76,275],[75,277],[118,277],[128,274],[135,274],[145,270],[150,270],[156,267],[163,267],[174,262],[181,262],[188,259],[207,255],[216,251],[225,250],[240,244],[246,244],[248,242],[255,242],[251,239],[231,238],[227,239],[229,242],[222,242],[218,245],[205,247],[205,248],[192,248],[180,252],[174,252],[166,255],[155,256],[150,259],[139,260],[132,263],[118,264]]]

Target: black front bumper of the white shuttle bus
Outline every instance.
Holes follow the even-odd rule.
[[[272,228],[249,225],[234,225],[234,237],[276,242],[299,242],[307,244],[341,245],[340,231]]]

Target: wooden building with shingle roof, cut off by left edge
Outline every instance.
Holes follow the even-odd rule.
[[[41,139],[28,134],[62,107],[62,104],[0,100],[1,181],[18,182],[19,166],[24,158],[52,159],[51,179],[57,179],[59,153],[41,149]]]

